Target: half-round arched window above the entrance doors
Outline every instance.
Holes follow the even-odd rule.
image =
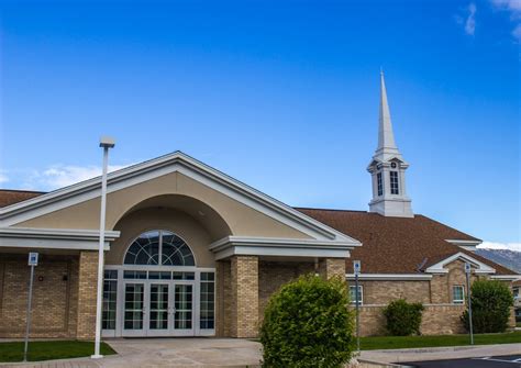
[[[176,234],[154,230],[137,236],[126,250],[125,265],[195,266],[190,247]]]

